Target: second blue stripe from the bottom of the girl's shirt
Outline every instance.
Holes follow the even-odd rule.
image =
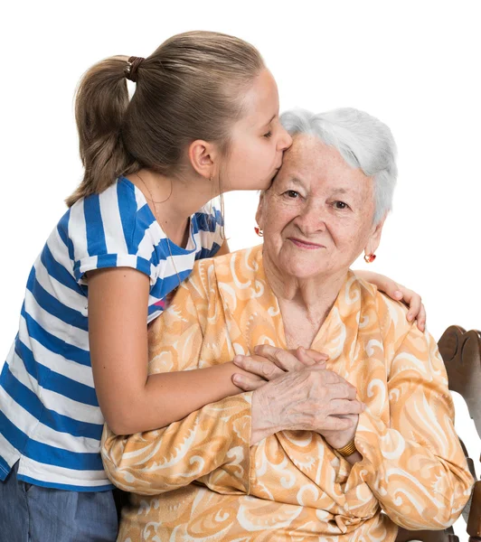
[[[59,433],[68,433],[72,436],[83,436],[85,438],[100,440],[103,425],[80,422],[79,420],[74,420],[69,416],[63,416],[46,408],[31,389],[24,386],[20,380],[14,377],[7,363],[5,363],[4,369],[2,369],[0,378],[2,388],[14,399],[15,403],[22,406],[43,425],[47,425],[47,427]],[[5,437],[8,438],[7,435]]]

